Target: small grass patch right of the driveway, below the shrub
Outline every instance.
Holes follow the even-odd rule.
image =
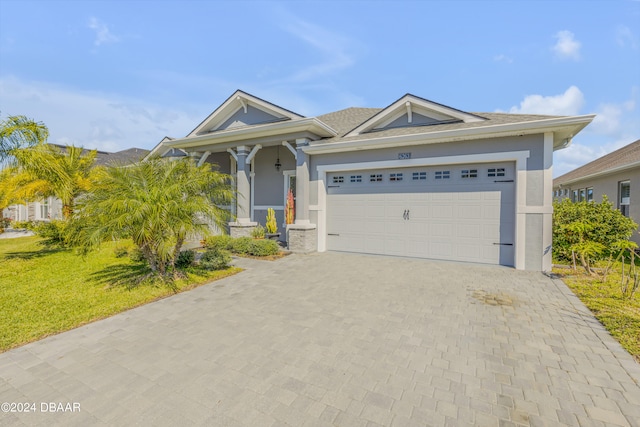
[[[619,271],[618,267],[618,272],[611,273],[603,283],[601,279],[587,275],[581,267],[576,272],[553,270],[622,347],[640,362],[640,291],[633,298],[623,298]]]

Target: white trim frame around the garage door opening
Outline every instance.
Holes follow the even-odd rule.
[[[515,162],[515,205],[526,203],[527,190],[527,159],[530,156],[529,150],[506,151],[499,153],[468,154],[460,156],[427,157],[408,160],[383,160],[362,163],[341,163],[333,165],[317,166],[318,172],[318,252],[327,250],[327,174],[330,172],[341,172],[351,170],[367,169],[391,169],[417,166],[453,165],[464,163],[493,163],[493,162]],[[518,270],[525,268],[525,217],[524,212],[519,210],[515,213],[515,251],[514,266]]]

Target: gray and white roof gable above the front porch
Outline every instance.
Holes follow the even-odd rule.
[[[213,113],[202,121],[187,137],[204,135],[226,129],[302,119],[304,116],[237,90]]]

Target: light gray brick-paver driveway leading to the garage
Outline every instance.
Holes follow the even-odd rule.
[[[638,365],[560,281],[337,253],[238,263],[0,354],[0,402],[37,411],[0,424],[640,425]]]

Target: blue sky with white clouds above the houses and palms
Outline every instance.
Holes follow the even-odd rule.
[[[640,138],[640,1],[0,0],[0,114],[152,148],[236,89],[314,116],[405,93],[597,114],[554,176]]]

